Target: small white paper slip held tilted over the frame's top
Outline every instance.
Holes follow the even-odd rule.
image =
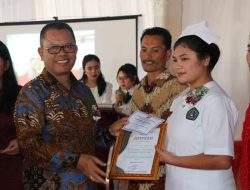
[[[142,111],[136,111],[128,118],[128,124],[123,127],[126,131],[148,134],[153,128],[164,122],[156,116],[149,115]]]

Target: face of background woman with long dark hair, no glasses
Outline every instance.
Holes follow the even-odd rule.
[[[90,60],[85,64],[84,67],[84,72],[88,77],[88,81],[97,81],[97,78],[99,77],[99,75],[101,74],[101,68],[100,68],[100,63],[98,63],[97,61]]]

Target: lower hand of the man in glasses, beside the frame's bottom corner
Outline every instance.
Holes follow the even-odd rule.
[[[79,169],[91,181],[106,184],[106,174],[100,169],[100,166],[104,167],[106,164],[95,156],[81,154],[77,164],[77,169]]]

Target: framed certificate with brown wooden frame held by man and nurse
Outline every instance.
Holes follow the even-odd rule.
[[[159,168],[155,146],[163,146],[166,127],[161,124],[148,134],[121,130],[113,149],[109,178],[155,180]]]

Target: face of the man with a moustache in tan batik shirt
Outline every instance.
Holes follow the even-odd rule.
[[[140,58],[142,67],[149,75],[158,76],[165,68],[170,58],[171,50],[167,50],[163,37],[145,35],[141,42]]]

